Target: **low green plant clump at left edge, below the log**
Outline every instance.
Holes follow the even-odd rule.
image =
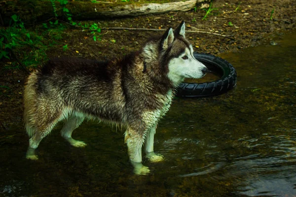
[[[39,27],[27,30],[20,18],[13,15],[9,27],[0,29],[0,59],[17,60],[6,68],[37,66],[47,60],[46,50],[62,38],[64,26],[56,20],[43,23],[42,27],[41,31]]]

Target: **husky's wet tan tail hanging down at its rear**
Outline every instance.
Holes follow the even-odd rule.
[[[37,109],[37,80],[38,70],[32,72],[27,79],[24,89],[24,124],[28,135],[31,137],[36,128],[34,114]]]

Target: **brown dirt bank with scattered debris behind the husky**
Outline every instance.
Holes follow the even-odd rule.
[[[239,3],[241,4],[239,5]],[[239,5],[239,9],[234,11]],[[204,10],[170,12],[123,19],[93,21],[104,27],[167,29],[177,27],[184,20],[186,25],[210,33],[230,35],[233,39],[207,33],[186,33],[197,52],[219,56],[220,53],[241,51],[259,44],[273,44],[275,36],[295,29],[296,0],[214,0],[218,8],[201,20]],[[273,20],[270,19],[271,11]],[[34,27],[33,27],[34,28]],[[186,30],[195,30],[187,28]],[[49,58],[76,56],[88,59],[108,60],[139,50],[153,35],[163,32],[103,30],[101,40],[94,41],[89,32],[69,28],[63,33],[63,43],[47,52]],[[68,50],[63,51],[63,45]],[[0,131],[9,130],[22,122],[22,92],[27,73],[22,69],[4,69],[11,61],[0,63]],[[235,65],[234,65],[235,67]],[[238,73],[239,74],[239,73]]]

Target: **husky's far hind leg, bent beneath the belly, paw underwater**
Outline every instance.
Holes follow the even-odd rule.
[[[76,129],[84,120],[84,117],[71,116],[65,121],[64,127],[61,130],[61,135],[74,147],[85,147],[86,143],[72,138],[72,132]]]

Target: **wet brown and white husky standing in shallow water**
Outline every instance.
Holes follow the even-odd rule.
[[[31,137],[26,158],[37,160],[35,149],[54,126],[64,120],[61,135],[74,147],[86,143],[72,138],[84,118],[126,128],[124,141],[136,174],[147,174],[142,146],[150,162],[159,119],[168,111],[174,90],[185,78],[201,78],[207,67],[193,57],[185,39],[185,23],[160,38],[110,62],[60,58],[50,60],[28,78],[24,90],[24,122]]]

